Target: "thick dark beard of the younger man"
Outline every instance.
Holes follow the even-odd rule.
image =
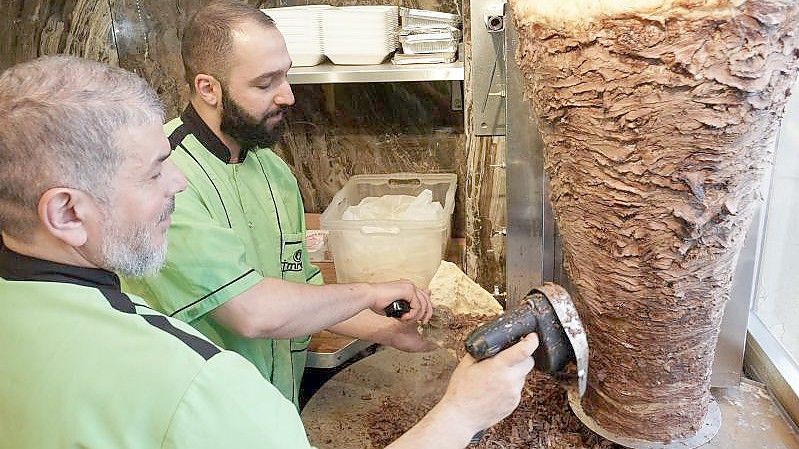
[[[283,135],[286,123],[285,120],[280,120],[270,128],[266,121],[279,114],[285,114],[288,107],[281,107],[259,120],[239,106],[228,92],[227,89],[222,89],[222,123],[220,124],[222,132],[235,139],[243,151],[254,148],[273,148],[280,140],[280,136]]]

